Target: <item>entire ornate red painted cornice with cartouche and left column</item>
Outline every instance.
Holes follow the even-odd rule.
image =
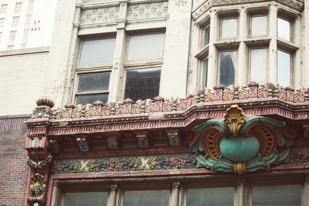
[[[57,109],[41,97],[25,122],[28,204],[47,204],[52,179],[307,169],[308,93],[251,82]]]

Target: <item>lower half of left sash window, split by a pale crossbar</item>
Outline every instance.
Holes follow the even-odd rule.
[[[99,100],[108,101],[108,86],[110,73],[80,74],[76,93],[76,104],[94,103]]]

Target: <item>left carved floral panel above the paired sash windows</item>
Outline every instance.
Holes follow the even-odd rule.
[[[104,23],[116,21],[119,16],[119,6],[97,9],[85,9],[81,12],[80,23]]]

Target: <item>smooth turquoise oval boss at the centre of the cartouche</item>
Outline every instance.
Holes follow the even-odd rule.
[[[229,136],[220,142],[223,157],[234,162],[247,162],[253,159],[260,149],[260,141],[256,137]]]

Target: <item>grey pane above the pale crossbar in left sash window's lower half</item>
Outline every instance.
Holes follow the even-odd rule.
[[[80,75],[78,93],[108,91],[110,73]]]

